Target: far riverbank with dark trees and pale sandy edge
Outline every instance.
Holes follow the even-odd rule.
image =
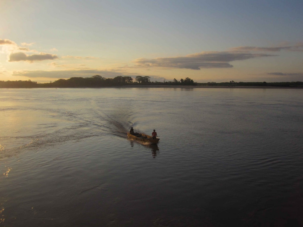
[[[139,76],[137,76],[139,77]],[[150,82],[149,78],[140,77],[133,82],[132,77],[117,76],[115,78],[104,78],[100,75],[92,77],[71,77],[69,79],[59,79],[57,81],[50,81],[50,83],[39,83],[37,81],[0,81],[0,88],[85,88],[85,87],[141,87],[141,88],[156,88],[156,87],[196,87],[196,88],[303,88],[303,81],[292,82],[208,82],[198,83],[186,77],[185,80],[164,81],[164,82]],[[146,79],[145,81],[142,78]]]

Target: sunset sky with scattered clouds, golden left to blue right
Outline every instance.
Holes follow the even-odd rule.
[[[0,80],[303,81],[303,1],[0,0]]]

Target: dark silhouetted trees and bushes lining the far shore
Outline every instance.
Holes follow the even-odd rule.
[[[197,83],[191,80],[191,78],[186,77],[177,81],[163,81],[163,82],[151,82],[151,77],[137,76],[135,81],[132,77],[122,77],[118,76],[115,78],[104,78],[100,75],[95,75],[92,77],[72,77],[67,80],[59,79],[50,83],[39,83],[35,81],[0,81],[0,88],[34,88],[34,87],[113,87],[113,86],[123,86],[123,85],[181,85],[181,86],[275,86],[275,87],[303,87],[303,82],[223,82],[223,83]]]

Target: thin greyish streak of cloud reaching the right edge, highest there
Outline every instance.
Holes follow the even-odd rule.
[[[241,46],[230,48],[231,51],[272,51],[278,52],[281,50],[287,51],[303,51],[303,43],[297,43],[293,46],[281,46],[281,47],[250,47],[250,46]]]

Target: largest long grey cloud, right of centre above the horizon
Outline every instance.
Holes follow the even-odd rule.
[[[185,57],[153,59],[138,58],[133,62],[137,64],[138,67],[166,67],[200,70],[200,68],[230,68],[233,67],[228,63],[230,61],[241,61],[250,58],[271,56],[277,55],[234,53],[228,51],[209,51],[196,54],[188,54]]]

